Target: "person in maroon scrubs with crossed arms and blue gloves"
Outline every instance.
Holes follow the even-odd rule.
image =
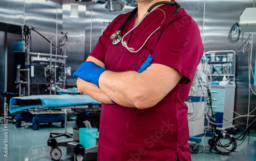
[[[157,2],[138,0],[120,36]],[[80,93],[102,102],[99,161],[191,160],[185,100],[203,45],[196,22],[175,11],[177,5],[158,5],[123,37],[134,51],[143,46],[137,52],[110,39],[129,13],[117,16],[73,74]]]

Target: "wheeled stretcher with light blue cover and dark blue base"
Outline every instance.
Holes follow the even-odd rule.
[[[35,95],[11,98],[9,111],[21,112],[16,116],[16,127],[21,127],[21,121],[25,121],[32,123],[32,128],[37,130],[40,123],[61,122],[60,126],[65,127],[65,109],[69,113],[91,111],[89,105],[94,105],[94,110],[98,110],[101,103],[88,95]]]

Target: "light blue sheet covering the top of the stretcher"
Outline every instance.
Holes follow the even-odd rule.
[[[41,100],[41,105],[17,105],[17,99],[23,100]],[[101,104],[94,100],[88,95],[35,95],[35,96],[24,96],[24,97],[13,97],[10,99],[10,113],[15,113],[21,110],[37,108],[43,106],[44,108],[55,108],[60,106],[69,105],[83,105],[83,104]]]

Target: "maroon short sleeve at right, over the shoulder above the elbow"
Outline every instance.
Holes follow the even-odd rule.
[[[153,62],[173,67],[183,75],[179,84],[194,79],[197,65],[203,53],[200,31],[189,16],[177,18],[162,29],[153,51]]]

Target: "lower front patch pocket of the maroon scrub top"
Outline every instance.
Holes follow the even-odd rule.
[[[125,161],[169,160],[173,129],[156,129],[127,124]]]

